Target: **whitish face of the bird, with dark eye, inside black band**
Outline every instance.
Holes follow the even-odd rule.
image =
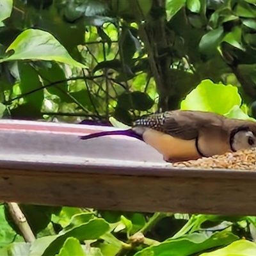
[[[256,137],[251,131],[239,131],[234,136],[232,147],[234,150],[256,147]]]

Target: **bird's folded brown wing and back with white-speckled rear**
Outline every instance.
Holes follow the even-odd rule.
[[[175,110],[150,115],[134,125],[146,126],[182,140],[193,140],[198,137],[199,131],[222,129],[224,120],[224,116],[215,113]]]

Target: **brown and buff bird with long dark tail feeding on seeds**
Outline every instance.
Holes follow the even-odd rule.
[[[96,132],[80,138],[115,134],[145,141],[171,163],[256,147],[256,122],[180,109],[143,116],[134,121],[131,129]]]

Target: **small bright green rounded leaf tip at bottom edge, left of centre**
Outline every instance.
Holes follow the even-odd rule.
[[[68,237],[68,239],[63,244],[63,247],[58,253],[60,256],[70,256],[70,255],[77,255],[77,256],[86,256],[84,251],[81,247],[79,241],[74,237]]]

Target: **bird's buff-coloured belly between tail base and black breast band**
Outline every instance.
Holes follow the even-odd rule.
[[[163,155],[165,161],[185,161],[198,159],[195,140],[181,140],[163,132],[147,129],[143,133],[145,143]]]

